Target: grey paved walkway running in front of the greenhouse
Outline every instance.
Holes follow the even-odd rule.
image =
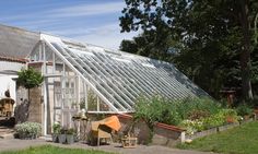
[[[159,145],[138,145],[136,149],[122,149],[119,144],[112,145],[101,145],[101,146],[89,146],[83,143],[74,143],[71,145],[59,144],[45,141],[43,139],[38,140],[19,140],[19,139],[0,139],[0,152],[2,151],[13,151],[26,149],[35,145],[45,145],[51,144],[61,147],[71,147],[71,149],[86,149],[86,150],[101,150],[106,152],[114,152],[119,154],[214,154],[214,153],[204,153],[204,152],[196,152],[196,151],[185,151],[185,150],[176,150],[169,149]]]

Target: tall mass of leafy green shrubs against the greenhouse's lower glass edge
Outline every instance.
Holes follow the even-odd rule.
[[[210,98],[186,98],[168,100],[154,96],[151,99],[140,97],[136,104],[136,119],[144,119],[150,127],[154,122],[179,125],[184,119],[203,118],[219,112],[220,104]]]

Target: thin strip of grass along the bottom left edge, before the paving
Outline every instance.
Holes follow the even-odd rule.
[[[7,151],[1,154],[113,154],[95,150],[66,149],[52,145],[33,146],[20,151]]]

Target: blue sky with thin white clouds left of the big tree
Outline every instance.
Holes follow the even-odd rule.
[[[124,0],[1,0],[0,23],[118,49]]]

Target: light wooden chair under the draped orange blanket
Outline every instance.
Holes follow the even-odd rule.
[[[101,144],[101,139],[109,139],[110,142],[113,142],[112,139],[112,129],[105,125],[101,125],[103,121],[92,121],[92,137],[94,139],[97,139],[97,146]]]

